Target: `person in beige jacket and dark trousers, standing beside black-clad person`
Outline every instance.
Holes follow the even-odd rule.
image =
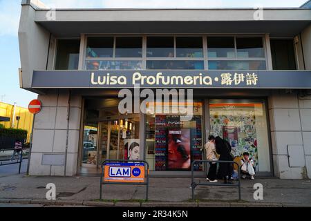
[[[215,137],[213,135],[209,136],[209,142],[205,144],[205,150],[207,160],[210,161],[218,160],[216,155]],[[217,172],[217,163],[209,162],[209,173],[207,174],[206,180],[209,180],[209,182],[217,182],[216,172]]]

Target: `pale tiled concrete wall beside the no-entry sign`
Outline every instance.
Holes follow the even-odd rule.
[[[38,96],[43,108],[40,113],[35,115],[30,175],[65,174],[64,165],[55,166],[53,163],[42,165],[42,156],[46,153],[66,155],[68,97],[68,92],[51,92]],[[71,95],[68,151],[66,157],[66,175],[69,176],[77,173],[81,107],[82,97]]]

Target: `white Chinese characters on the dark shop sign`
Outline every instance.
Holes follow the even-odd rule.
[[[220,75],[221,76],[221,85],[239,85],[242,82],[246,81],[247,86],[256,86],[258,82],[258,75],[255,73],[249,74],[247,73],[246,75],[244,73],[235,73],[233,76],[230,73],[223,73]]]

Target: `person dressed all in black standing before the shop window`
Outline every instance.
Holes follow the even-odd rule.
[[[220,154],[219,160],[223,161],[232,161],[232,157],[230,155],[231,145],[229,142],[223,140],[221,137],[215,138],[216,151]],[[232,183],[231,175],[233,172],[232,164],[230,163],[220,163],[218,170],[218,177],[224,180],[224,183]]]

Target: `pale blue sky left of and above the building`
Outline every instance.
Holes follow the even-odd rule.
[[[49,8],[285,8],[307,0],[41,0]],[[37,94],[19,88],[21,0],[0,0],[0,102],[27,107]]]

